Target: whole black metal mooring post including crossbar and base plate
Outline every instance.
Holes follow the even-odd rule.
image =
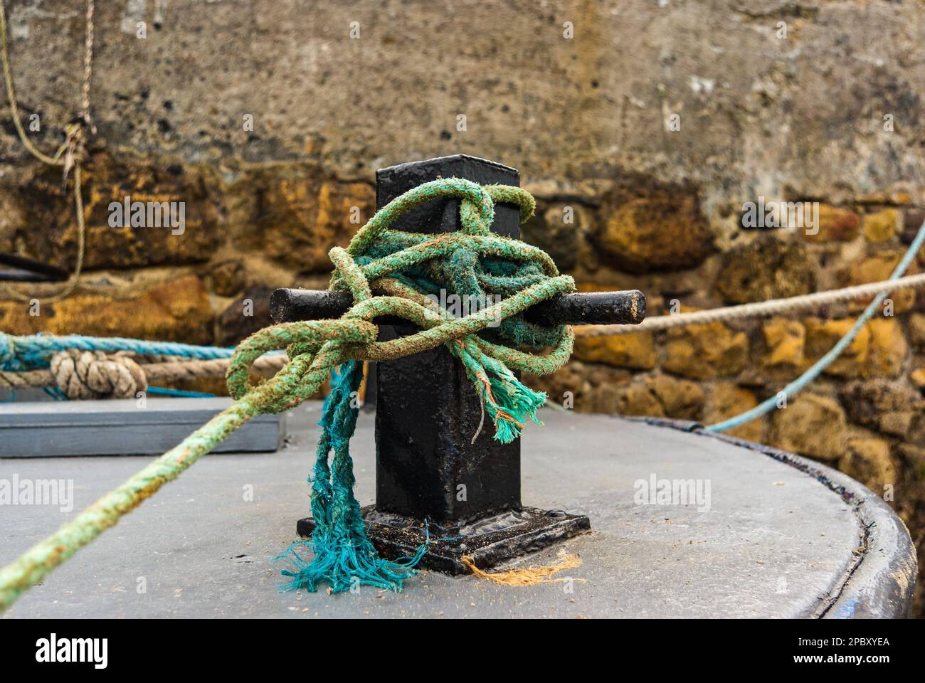
[[[376,173],[376,208],[429,180],[464,178],[479,184],[519,185],[513,169],[485,159],[454,155],[383,168]],[[440,233],[461,230],[460,201],[440,199],[413,208],[393,230]],[[492,230],[520,238],[519,209],[495,207]],[[351,305],[341,292],[277,290],[277,322],[341,316]],[[593,292],[556,297],[524,312],[543,324],[638,323],[645,317],[641,292]],[[380,341],[413,334],[404,320],[376,321]],[[376,364],[376,505],[364,508],[370,539],[380,553],[400,556],[424,538],[437,538],[422,565],[458,574],[490,566],[590,528],[584,515],[521,504],[521,441],[502,444],[490,425],[479,431],[480,398],[462,364],[443,346]],[[478,433],[475,440],[473,437]],[[311,533],[303,519],[299,532]]]

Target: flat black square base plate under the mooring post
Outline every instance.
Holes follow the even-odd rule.
[[[363,516],[366,535],[376,551],[389,560],[411,557],[425,542],[425,524],[420,519],[381,513],[375,505],[364,507]],[[590,529],[585,515],[536,507],[491,515],[462,526],[430,523],[430,546],[417,566],[452,576],[469,574],[472,570],[462,562],[463,555],[479,569],[488,569]],[[302,538],[311,537],[314,519],[300,519],[296,530]]]

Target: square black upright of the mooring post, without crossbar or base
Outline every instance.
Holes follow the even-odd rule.
[[[456,155],[383,168],[376,173],[376,208],[438,177],[519,185],[513,168]],[[432,204],[437,204],[432,205]],[[460,230],[459,202],[427,203],[397,230]],[[498,205],[492,230],[520,237],[519,210]],[[380,328],[406,336],[417,327]],[[376,364],[376,510],[460,525],[519,510],[520,440],[493,439],[490,420],[474,439],[482,404],[462,364],[442,344],[422,354]]]

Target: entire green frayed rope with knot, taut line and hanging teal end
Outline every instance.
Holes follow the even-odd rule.
[[[460,199],[462,230],[440,235],[389,230],[391,223],[416,205],[438,198]],[[545,394],[531,391],[513,371],[545,375],[572,354],[573,333],[567,326],[543,328],[521,315],[524,309],[558,294],[574,292],[573,279],[562,276],[545,252],[524,242],[492,234],[496,202],[516,204],[521,220],[533,215],[533,197],[515,187],[449,178],[405,192],[384,206],[357,232],[348,248],[329,253],[335,272],[331,289],[351,292],[354,305],[337,320],[307,320],[262,329],[240,343],[228,366],[228,390],[235,402],[178,446],[129,478],[114,491],[40,541],[0,570],[0,609],[42,580],[81,547],[113,527],[144,499],[177,477],[248,419],[279,413],[301,404],[328,376],[333,389],[320,422],[317,461],[312,483],[313,539],[299,541],[284,553],[292,559],[289,588],[316,590],[327,582],[333,592],[349,590],[356,581],[401,590],[426,549],[399,562],[381,560],[366,538],[360,506],[353,496],[349,442],[357,409],[351,393],[359,386],[364,360],[387,361],[446,344],[458,357],[495,426],[495,438],[509,442]],[[466,317],[449,317],[427,298],[440,290],[458,295],[503,298]],[[374,295],[376,292],[376,295]],[[478,299],[485,301],[485,299]],[[375,317],[401,317],[421,331],[389,342],[376,342]],[[494,339],[477,336],[500,324]],[[551,347],[546,355],[521,351]],[[285,349],[290,362],[272,379],[252,386],[248,371],[261,355]],[[336,369],[339,367],[339,372]],[[333,460],[329,461],[333,451]],[[310,546],[311,562],[295,548]]]

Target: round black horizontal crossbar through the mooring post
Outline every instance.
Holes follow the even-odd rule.
[[[350,292],[278,289],[270,296],[274,322],[338,318],[353,304]],[[636,325],[646,317],[646,297],[638,290],[563,294],[530,306],[528,322],[538,325]],[[394,319],[383,318],[391,324]]]

